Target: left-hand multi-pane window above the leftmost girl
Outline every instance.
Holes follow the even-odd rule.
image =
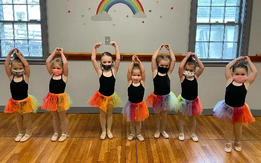
[[[0,57],[19,48],[26,58],[43,59],[46,33],[46,0],[0,0]]]

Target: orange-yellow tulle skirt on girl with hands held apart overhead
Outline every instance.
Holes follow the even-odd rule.
[[[114,92],[111,96],[105,96],[99,91],[96,91],[87,103],[93,107],[99,107],[104,112],[107,111],[108,105],[116,107],[122,104],[116,92]]]

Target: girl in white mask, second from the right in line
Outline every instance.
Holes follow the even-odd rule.
[[[196,60],[193,57],[195,57]],[[197,63],[199,69],[196,70]],[[179,112],[178,127],[180,140],[185,139],[183,132],[183,121],[185,115],[188,115],[190,120],[190,136],[193,141],[198,141],[198,137],[195,134],[195,116],[201,114],[202,106],[198,97],[197,79],[202,74],[203,70],[204,65],[199,60],[197,55],[192,52],[187,53],[179,66],[181,94],[177,97],[177,105],[175,106],[175,110],[176,112]]]

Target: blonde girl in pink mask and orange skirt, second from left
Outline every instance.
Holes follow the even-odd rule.
[[[55,59],[57,52],[61,53],[61,57]],[[49,92],[44,97],[42,109],[52,111],[54,134],[51,138],[56,141],[59,133],[59,122],[62,125],[62,135],[59,141],[64,141],[67,137],[68,121],[66,118],[66,110],[70,108],[71,99],[64,92],[68,78],[68,62],[63,53],[63,48],[57,47],[52,54],[46,59],[46,68],[50,74]]]

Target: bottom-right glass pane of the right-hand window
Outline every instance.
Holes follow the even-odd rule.
[[[223,59],[233,59],[236,56],[237,43],[224,42]]]

